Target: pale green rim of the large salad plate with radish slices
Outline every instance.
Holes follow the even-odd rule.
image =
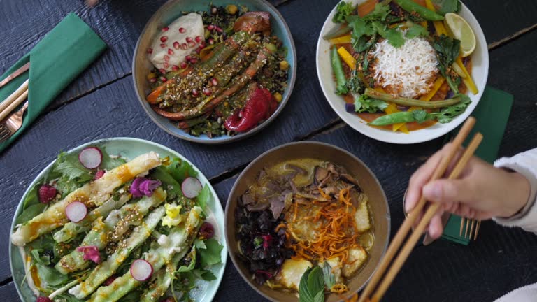
[[[117,137],[111,137],[111,138],[99,138],[99,139],[96,139],[94,141],[90,141],[90,142],[87,142],[87,143],[83,143],[82,145],[78,145],[76,147],[73,147],[67,151],[65,151],[66,153],[71,153],[71,152],[76,152],[78,150],[81,150],[89,145],[98,145],[98,144],[103,144],[103,143],[107,143],[107,142],[110,142],[110,141],[131,141],[131,142],[134,142],[134,143],[143,143],[143,144],[148,144],[148,145],[152,145],[152,146],[156,146],[157,148],[162,148],[162,150],[166,150],[167,152],[179,157],[181,160],[184,160],[184,161],[187,161],[188,164],[190,164],[194,170],[196,170],[196,172],[198,173],[198,178],[199,176],[201,175],[201,180],[202,180],[202,183],[205,183],[206,185],[208,185],[209,189],[210,189],[210,192],[211,194],[213,194],[213,198],[214,198],[214,202],[215,202],[215,208],[217,208],[217,212],[220,212],[222,214],[222,225],[224,226],[224,229],[225,229],[225,213],[224,213],[224,209],[222,208],[222,203],[220,202],[220,198],[218,197],[218,194],[216,193],[215,189],[213,188],[213,185],[210,184],[208,178],[206,178],[206,176],[203,174],[203,172],[194,164],[192,164],[192,161],[190,161],[189,159],[187,159],[185,156],[183,156],[182,154],[180,154],[179,152],[175,151],[175,150],[172,150],[171,148],[169,147],[166,147],[165,145],[161,145],[159,143],[155,143],[155,142],[152,142],[152,141],[148,141],[148,140],[145,140],[145,139],[142,139],[142,138],[131,138],[131,137],[127,137],[127,136],[117,136]],[[22,203],[24,202],[24,199],[26,198],[28,192],[30,191],[31,187],[34,187],[34,185],[36,185],[36,182],[38,182],[38,180],[41,180],[45,174],[49,173],[50,172],[50,168],[52,168],[52,165],[55,164],[55,162],[57,161],[57,157],[55,159],[53,159],[52,161],[50,161],[50,163],[45,166],[45,168],[43,168],[39,173],[38,175],[34,178],[34,180],[32,180],[30,182],[30,184],[28,185],[27,189],[24,191],[24,194],[22,194],[22,197],[20,198],[20,201],[19,203],[17,204],[17,208],[15,208],[15,214],[13,215],[13,220],[11,221],[11,225],[10,225],[10,232],[9,232],[9,252],[8,252],[8,257],[9,257],[9,268],[10,268],[10,273],[11,273],[11,277],[13,278],[13,283],[15,285],[15,289],[17,289],[17,294],[19,295],[19,298],[21,301],[24,301],[24,296],[22,296],[22,293],[20,291],[20,286],[18,284],[18,282],[15,282],[15,277],[13,275],[13,252],[18,252],[17,249],[18,247],[13,245],[13,243],[11,243],[11,234],[13,233],[14,229],[15,229],[15,220],[17,219],[17,217],[20,215],[21,213],[21,210],[22,210]],[[215,219],[217,217],[216,215],[217,213],[215,213]],[[228,249],[227,249],[227,241],[225,240],[225,231],[224,229],[222,229],[222,239],[221,240],[222,242],[220,242],[220,244],[222,245],[222,251],[220,252],[220,255],[221,255],[221,258],[222,258],[222,261],[220,264],[217,264],[218,266],[220,266],[220,268],[218,268],[218,273],[217,273],[217,280],[215,280],[215,287],[213,287],[213,292],[208,292],[206,291],[208,294],[206,294],[206,296],[203,297],[203,299],[201,301],[212,301],[214,299],[214,297],[216,296],[217,292],[218,292],[218,289],[220,289],[220,285],[222,283],[222,279],[224,279],[224,272],[225,272],[225,268],[226,268],[226,264],[227,264],[227,255],[228,255]],[[24,266],[24,263],[22,264]]]

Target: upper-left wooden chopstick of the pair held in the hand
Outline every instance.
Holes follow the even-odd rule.
[[[438,178],[441,178],[445,170],[447,169],[447,166],[452,161],[455,154],[457,154],[457,151],[461,147],[464,140],[466,140],[466,137],[470,133],[471,129],[473,128],[473,125],[475,124],[475,118],[474,117],[468,117],[468,120],[464,123],[464,125],[461,127],[461,130],[455,136],[455,139],[453,140],[452,145],[450,146],[450,150],[447,151],[447,154],[443,159],[441,159],[440,164],[438,164],[438,167],[434,171],[433,176],[431,177],[431,180],[437,180]],[[425,206],[425,199],[422,196],[420,201],[418,201],[415,208],[410,212],[410,214],[406,217],[406,219],[403,221],[403,224],[401,224],[401,227],[397,231],[394,239],[392,240],[392,243],[389,245],[388,250],[386,251],[386,254],[380,260],[380,264],[373,273],[373,276],[371,277],[371,280],[369,280],[368,284],[366,285],[366,288],[361,293],[358,302],[364,302],[366,299],[368,299],[371,294],[373,294],[373,289],[377,286],[378,282],[380,281],[380,278],[382,278],[382,275],[385,273],[386,269],[389,266],[390,261],[395,256],[395,253],[399,250],[399,247],[401,247],[401,244],[403,243],[403,240],[406,238],[408,232],[412,228],[414,222],[416,221],[417,217],[422,213],[422,210]]]

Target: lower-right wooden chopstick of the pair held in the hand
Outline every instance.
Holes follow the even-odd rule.
[[[483,139],[482,134],[478,133],[473,136],[471,143],[468,145],[468,148],[464,151],[462,154],[461,159],[457,162],[457,165],[455,165],[453,171],[450,173],[449,179],[455,179],[458,178],[461,172],[464,170],[464,167],[466,164],[468,164],[468,160],[471,159],[473,156],[473,153],[478,148],[479,144],[481,143]],[[417,240],[420,239],[422,236],[423,231],[431,221],[431,218],[438,212],[438,208],[440,208],[440,203],[431,203],[429,205],[429,208],[427,208],[427,211],[425,212],[424,216],[422,217],[422,220],[420,220],[420,223],[417,224],[417,227],[413,231],[412,235],[410,235],[410,238],[405,243],[403,248],[401,249],[401,252],[399,252],[399,255],[394,260],[393,265],[389,268],[389,271],[386,273],[385,278],[382,280],[380,285],[378,286],[377,291],[375,294],[373,294],[372,301],[380,301],[382,299],[382,296],[384,296],[386,290],[388,289],[389,285],[394,280],[395,276],[399,271],[401,270],[401,267],[405,263],[406,259],[408,258],[408,255],[413,250],[414,246],[417,243]]]

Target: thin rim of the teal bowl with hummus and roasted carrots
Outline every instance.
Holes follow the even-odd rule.
[[[288,93],[287,93],[286,96],[284,96],[282,101],[280,101],[280,103],[278,104],[278,108],[276,108],[276,111],[271,115],[271,117],[268,117],[268,119],[265,120],[264,122],[262,122],[262,124],[258,124],[254,129],[251,129],[250,131],[248,131],[246,133],[243,133],[243,134],[236,134],[235,136],[220,136],[220,138],[200,138],[200,137],[196,137],[196,136],[190,136],[185,131],[182,131],[182,130],[180,130],[181,132],[176,132],[176,131],[169,130],[167,127],[164,126],[164,124],[162,124],[162,122],[160,122],[157,119],[156,116],[153,115],[154,111],[152,111],[151,108],[146,108],[146,106],[144,106],[145,105],[145,96],[142,96],[141,93],[138,92],[137,85],[136,85],[136,78],[139,76],[136,73],[136,68],[135,68],[136,54],[138,53],[138,48],[140,47],[142,36],[148,30],[150,24],[155,22],[155,20],[156,20],[155,18],[156,18],[157,13],[159,13],[160,10],[163,10],[164,8],[166,8],[166,6],[170,6],[171,3],[177,2],[177,1],[181,1],[181,0],[168,0],[168,1],[166,1],[166,3],[164,3],[162,6],[160,6],[155,11],[155,13],[153,13],[151,15],[151,17],[149,18],[148,22],[145,23],[145,26],[143,27],[140,36],[138,36],[138,40],[136,41],[136,46],[134,47],[134,52],[133,52],[133,55],[132,55],[132,64],[131,64],[132,82],[133,82],[133,85],[134,85],[134,92],[136,93],[136,97],[138,98],[138,101],[141,104],[141,106],[142,106],[143,110],[145,111],[145,113],[150,117],[150,119],[155,124],[157,124],[157,126],[160,129],[166,131],[167,133],[171,134],[172,136],[176,136],[177,138],[181,138],[181,139],[184,139],[186,141],[191,141],[191,142],[194,142],[194,143],[202,143],[202,144],[206,144],[206,145],[220,145],[220,144],[224,144],[224,143],[231,143],[231,142],[234,142],[234,141],[240,141],[243,138],[248,138],[249,136],[252,136],[253,134],[256,134],[257,132],[259,132],[262,129],[264,129],[265,127],[267,127],[268,124],[271,124],[271,122],[273,122],[273,120],[275,120],[275,118],[278,117],[278,115],[280,115],[280,113],[282,112],[282,110],[285,107],[285,105],[287,105],[287,102],[289,101],[289,98],[292,95],[292,92],[293,92],[293,89],[294,89],[294,84],[296,82],[297,59],[296,59],[296,46],[294,44],[294,38],[293,38],[293,35],[291,34],[291,30],[289,29],[289,26],[287,25],[287,22],[285,22],[285,18],[282,16],[280,11],[277,8],[275,8],[275,6],[273,6],[270,2],[268,2],[266,0],[252,0],[252,1],[258,1],[259,3],[262,4],[262,6],[268,6],[268,8],[273,10],[274,15],[272,14],[272,12],[271,12],[271,15],[273,15],[274,18],[278,18],[282,22],[283,29],[284,29],[284,34],[289,38],[289,43],[291,45],[291,56],[292,56],[292,59],[293,59],[293,62],[294,62],[293,66],[291,66],[291,73],[289,74],[290,75],[290,80],[289,80],[289,85],[287,86]],[[151,110],[151,112],[150,112],[150,110]]]

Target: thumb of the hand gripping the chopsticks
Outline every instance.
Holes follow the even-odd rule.
[[[437,203],[464,203],[468,188],[461,180],[434,180],[423,187],[422,194],[428,201]]]

